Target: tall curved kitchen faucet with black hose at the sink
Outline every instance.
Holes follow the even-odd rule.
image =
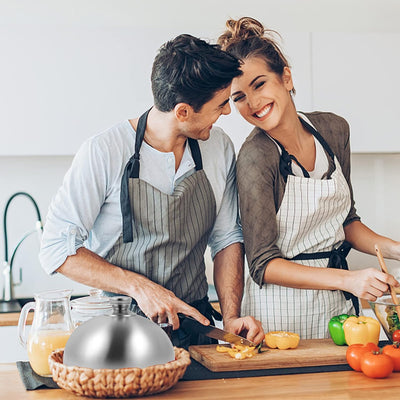
[[[37,214],[37,222],[36,222],[36,228],[24,234],[24,236],[15,246],[15,249],[11,254],[11,258],[9,258],[8,238],[7,238],[7,212],[12,200],[17,196],[25,196],[32,201]],[[39,207],[34,198],[30,194],[26,192],[17,192],[14,193],[8,199],[3,214],[3,228],[4,228],[4,269],[3,269],[3,296],[2,296],[2,301],[0,302],[0,311],[3,312],[19,311],[21,307],[14,298],[14,286],[20,284],[22,279],[20,278],[19,282],[17,283],[14,283],[13,281],[12,269],[13,269],[14,258],[18,248],[21,246],[21,244],[24,242],[26,238],[28,238],[35,232],[38,232],[40,235],[43,232],[43,224],[40,216]],[[21,269],[20,269],[20,276],[21,276]]]

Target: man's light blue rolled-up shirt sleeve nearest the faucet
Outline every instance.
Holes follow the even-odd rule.
[[[84,246],[107,191],[107,172],[99,147],[85,142],[51,201],[39,253],[42,268],[54,273]]]

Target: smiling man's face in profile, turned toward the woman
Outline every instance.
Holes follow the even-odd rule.
[[[231,112],[230,92],[230,86],[216,92],[215,96],[205,103],[199,112],[192,113],[184,127],[184,134],[192,139],[207,140],[210,137],[213,124],[221,114],[228,115]]]

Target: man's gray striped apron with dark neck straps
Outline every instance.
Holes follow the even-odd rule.
[[[139,118],[135,154],[122,178],[122,234],[105,258],[171,290],[211,318],[204,252],[216,217],[214,193],[202,168],[197,140],[190,138],[196,172],[184,178],[171,195],[139,179],[149,111]],[[132,310],[144,315],[134,299]],[[174,344],[184,346],[186,336],[174,332]]]

